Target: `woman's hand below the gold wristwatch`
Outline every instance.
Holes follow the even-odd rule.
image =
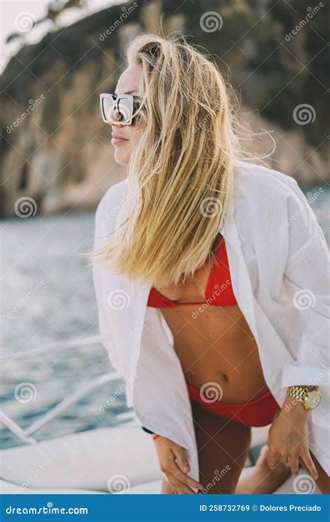
[[[281,412],[273,421],[268,432],[268,465],[275,468],[280,461],[290,464],[292,475],[298,474],[299,457],[306,469],[317,480],[317,470],[308,445],[308,411],[292,397],[285,400]]]

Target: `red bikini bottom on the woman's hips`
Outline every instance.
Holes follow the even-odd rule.
[[[249,402],[230,404],[229,402],[221,402],[219,400],[206,402],[206,400],[201,397],[199,390],[194,388],[194,386],[187,383],[187,387],[191,400],[201,404],[207,411],[250,427],[267,426],[271,424],[276,411],[281,410],[281,407],[270,391],[261,395],[258,399]]]

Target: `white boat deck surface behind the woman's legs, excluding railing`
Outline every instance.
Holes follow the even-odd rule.
[[[265,438],[267,429],[253,429],[253,445]],[[160,493],[154,442],[136,422],[8,448],[0,458],[1,493]],[[294,493],[294,478],[274,493]]]

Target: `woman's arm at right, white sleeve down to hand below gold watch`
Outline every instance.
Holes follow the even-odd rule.
[[[311,205],[293,178],[288,187],[287,209],[285,228],[282,228],[288,237],[283,285],[292,306],[298,310],[301,338],[294,361],[283,367],[281,386],[308,386],[310,390],[317,390],[318,385],[330,386],[329,248]],[[309,450],[310,414],[299,401],[290,395],[285,397],[269,429],[270,467],[278,461],[288,461],[292,474],[297,475],[301,457],[312,477],[317,479]]]

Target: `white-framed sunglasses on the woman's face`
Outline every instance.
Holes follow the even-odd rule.
[[[132,125],[141,98],[132,94],[100,94],[102,120],[105,123]]]

